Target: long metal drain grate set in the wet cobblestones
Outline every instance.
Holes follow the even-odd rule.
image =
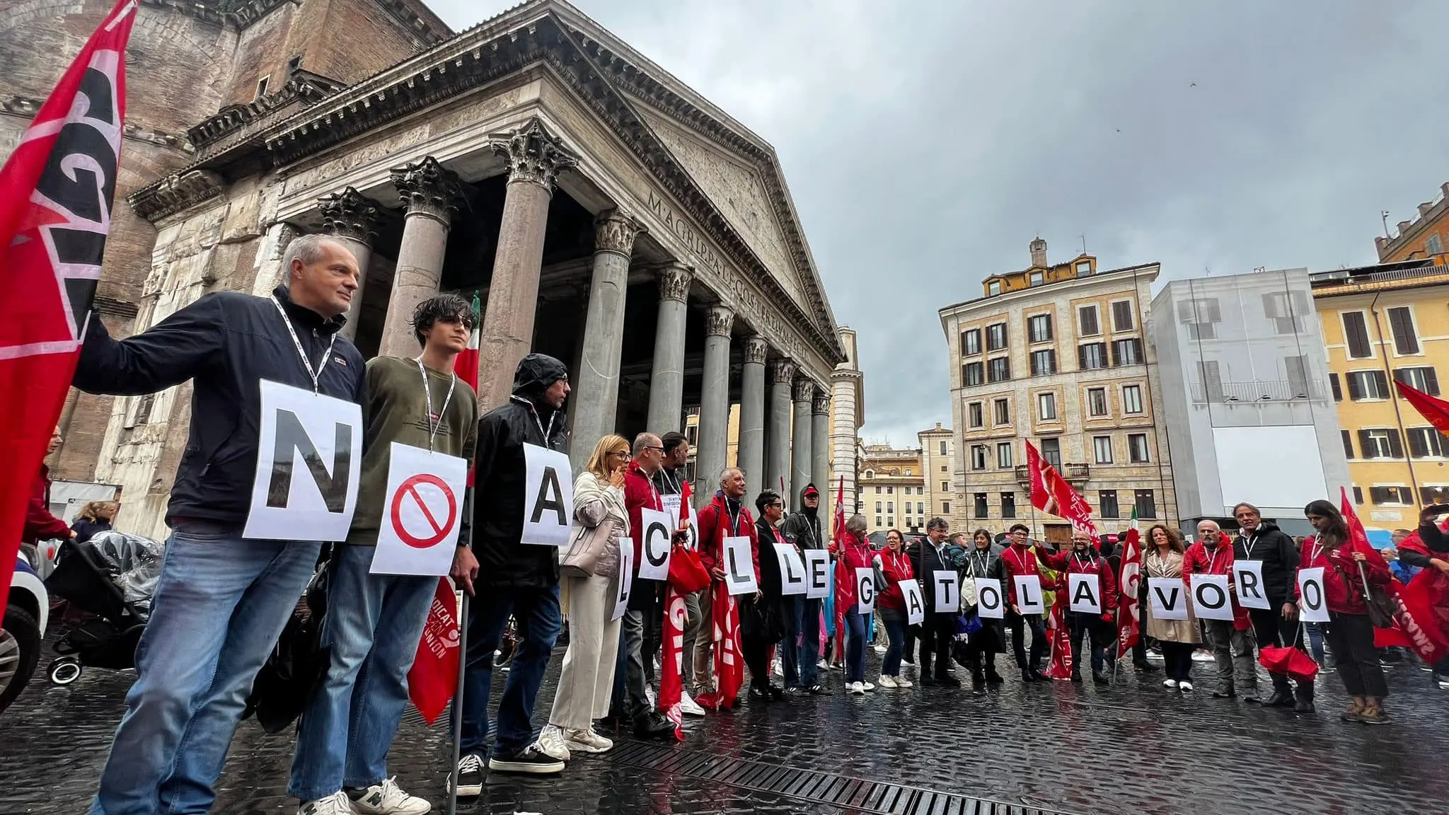
[[[813,803],[830,803],[855,812],[881,815],[1062,815],[966,795],[849,779],[833,773],[800,770],[642,741],[623,742],[609,757],[619,764],[798,798]]]

